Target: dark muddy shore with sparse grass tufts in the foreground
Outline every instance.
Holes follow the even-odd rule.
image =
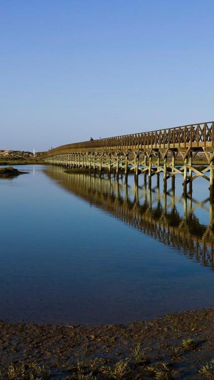
[[[98,327],[1,321],[0,379],[214,379],[213,324],[213,308]]]

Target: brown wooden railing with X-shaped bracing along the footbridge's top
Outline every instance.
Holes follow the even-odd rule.
[[[206,147],[207,143],[209,143],[209,146],[214,146],[214,121],[94,141],[75,142],[51,149],[46,155],[50,156],[70,149],[199,147],[202,144]]]

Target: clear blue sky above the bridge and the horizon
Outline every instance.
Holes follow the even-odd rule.
[[[0,149],[214,120],[214,1],[0,0]]]

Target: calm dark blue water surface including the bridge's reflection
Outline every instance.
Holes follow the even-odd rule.
[[[126,323],[213,305],[208,186],[192,199],[46,166],[0,179],[0,318]]]

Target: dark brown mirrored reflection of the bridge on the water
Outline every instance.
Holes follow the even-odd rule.
[[[66,174],[49,166],[46,174],[57,184],[131,227],[179,250],[204,266],[214,268],[214,199],[197,201],[192,193],[175,196],[175,189],[160,191],[135,181],[107,175]],[[131,182],[131,185],[129,184]],[[181,209],[183,212],[181,212]],[[198,210],[207,213],[200,223]],[[180,211],[179,211],[180,210]]]

